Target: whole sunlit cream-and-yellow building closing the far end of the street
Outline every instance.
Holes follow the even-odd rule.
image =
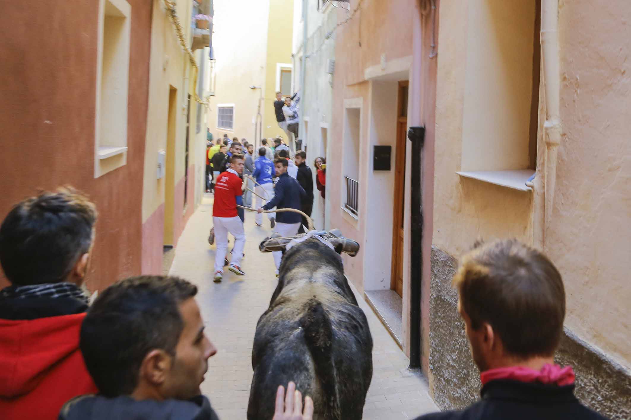
[[[286,137],[273,101],[276,91],[292,91],[292,20],[291,0],[215,1],[208,110],[215,139],[227,135],[259,145],[261,138]]]

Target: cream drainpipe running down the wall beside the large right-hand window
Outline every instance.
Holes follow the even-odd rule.
[[[543,91],[545,96],[546,120],[543,124],[545,137],[545,172],[543,200],[536,208],[535,225],[543,221],[534,232],[534,241],[545,249],[545,232],[550,227],[557,178],[557,153],[563,130],[560,118],[560,65],[558,49],[558,0],[541,1],[541,62],[543,64]],[[542,220],[543,219],[543,220]]]

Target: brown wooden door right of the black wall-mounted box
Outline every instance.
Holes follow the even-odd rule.
[[[392,213],[392,273],[390,288],[403,298],[403,225],[405,222],[405,157],[408,130],[408,81],[399,82],[396,152],[394,156],[394,211]]]

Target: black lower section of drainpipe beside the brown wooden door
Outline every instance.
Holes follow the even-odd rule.
[[[425,143],[425,127],[410,127],[412,142],[411,167],[411,243],[410,243],[410,368],[421,367],[421,278],[423,272],[423,203],[421,195],[421,157]]]

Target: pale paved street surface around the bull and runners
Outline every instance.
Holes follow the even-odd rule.
[[[218,352],[209,360],[202,391],[211,400],[221,420],[245,419],[252,380],[252,339],[259,316],[276,287],[271,254],[258,250],[271,230],[264,218],[262,227],[254,224],[254,213],[245,215],[245,276],[226,270],[222,283],[213,283],[215,246],[208,245],[212,225],[212,196],[189,220],[177,244],[170,270],[199,287],[198,303],[206,322],[208,338]],[[230,237],[232,246],[233,239]],[[352,285],[351,285],[352,287]],[[353,288],[357,295],[357,292]],[[363,298],[357,300],[365,312],[374,340],[374,373],[364,408],[364,419],[408,419],[437,411],[428,396],[425,380],[406,369],[408,359],[374,315]]]

